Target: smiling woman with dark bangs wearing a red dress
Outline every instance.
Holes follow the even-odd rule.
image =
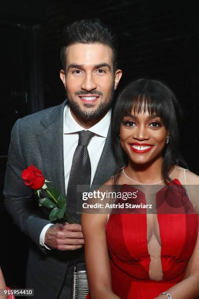
[[[156,213],[82,214],[92,299],[199,298],[197,188],[189,186],[199,176],[181,167],[177,111],[158,81],[137,80],[119,96],[113,146],[126,167],[106,185],[139,192],[137,202]]]

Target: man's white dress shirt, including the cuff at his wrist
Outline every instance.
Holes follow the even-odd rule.
[[[95,172],[100,161],[100,156],[106,141],[108,134],[109,125],[111,122],[111,110],[109,110],[106,115],[95,124],[93,127],[88,130],[95,133],[93,138],[91,138],[88,144],[88,153],[91,161],[91,184],[95,175]],[[68,180],[70,175],[70,170],[73,161],[73,155],[75,149],[78,145],[79,134],[78,132],[85,130],[82,128],[71,115],[71,111],[68,105],[64,107],[63,111],[63,164],[64,164],[64,178],[65,178],[65,190],[67,192]],[[40,245],[45,246],[47,249],[50,249],[44,244],[45,233],[47,229],[54,225],[52,223],[44,226],[40,234]]]

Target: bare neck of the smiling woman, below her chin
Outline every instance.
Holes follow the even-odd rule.
[[[128,166],[125,168],[125,173],[141,184],[156,184],[164,180],[161,172],[162,163],[162,157],[144,165],[129,161]]]

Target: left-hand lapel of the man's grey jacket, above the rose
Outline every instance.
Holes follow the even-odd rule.
[[[42,132],[38,135],[43,162],[43,173],[52,186],[65,193],[63,164],[63,110],[66,101],[52,108],[48,116],[41,120]]]

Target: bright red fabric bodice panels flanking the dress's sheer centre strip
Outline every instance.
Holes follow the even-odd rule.
[[[198,235],[198,215],[178,180],[172,188],[164,186],[156,193],[157,223],[160,238],[162,280],[183,278]],[[137,188],[136,188],[137,189]],[[120,192],[135,192],[135,187],[123,185]],[[146,205],[143,192],[131,203]],[[111,262],[133,279],[150,279],[146,209],[112,211],[106,225],[107,245]],[[156,227],[154,226],[154,227]]]

